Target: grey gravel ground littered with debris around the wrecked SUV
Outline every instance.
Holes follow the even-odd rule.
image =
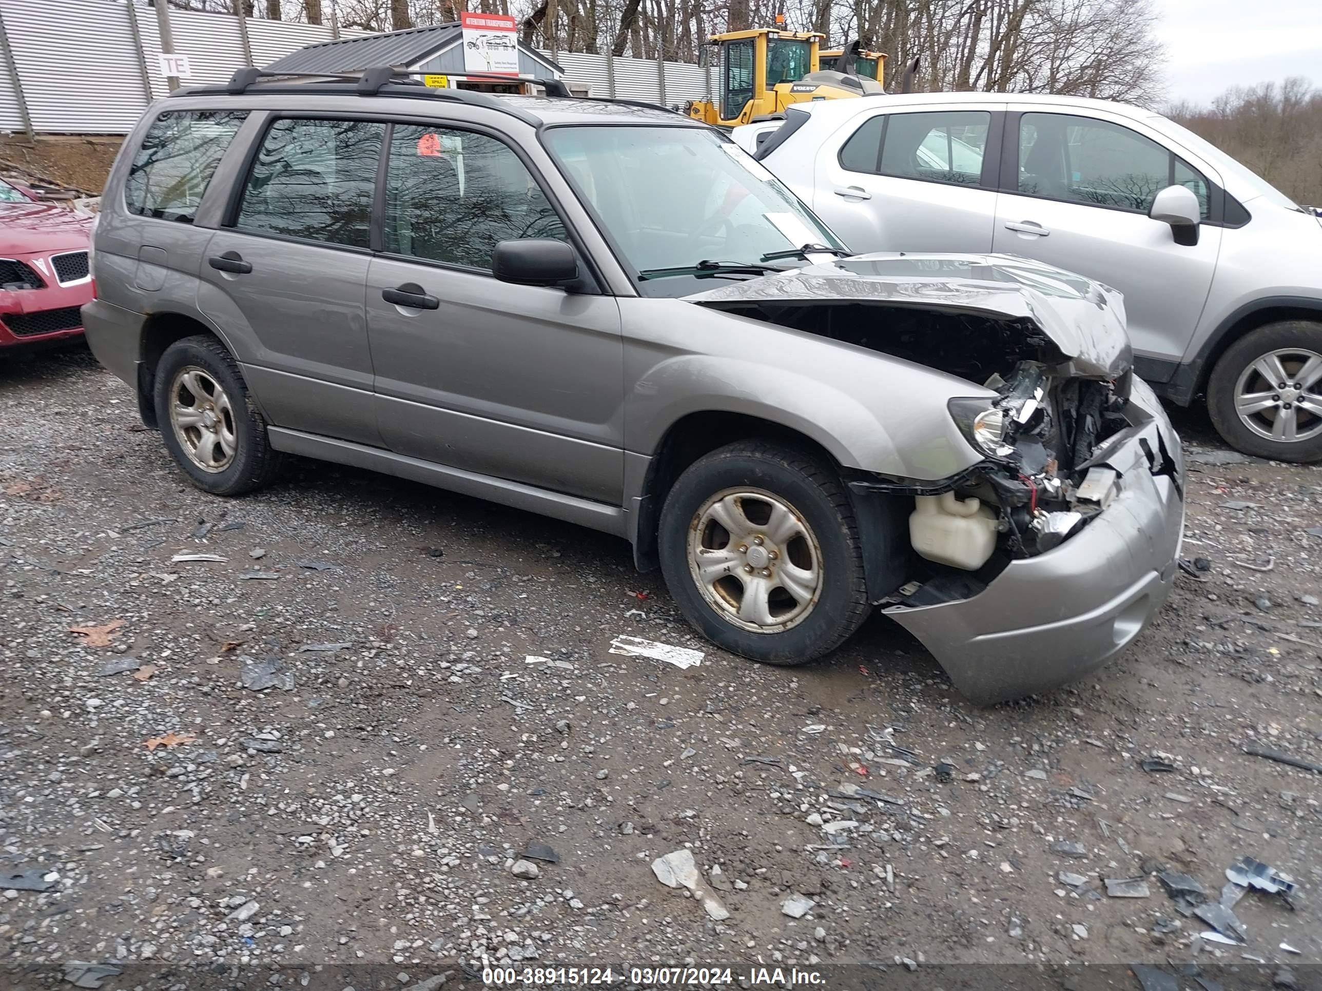
[[[205,495],[86,351],[7,357],[0,867],[46,889],[0,884],[0,984],[83,961],[124,970],[106,988],[430,991],[485,961],[1313,987],[1322,777],[1244,749],[1322,762],[1322,485],[1177,425],[1199,567],[1120,661],[982,710],[879,617],[801,669],[723,654],[570,525],[313,462]],[[653,872],[678,851],[697,892]],[[1245,943],[1203,939],[1155,873],[1218,902],[1241,856],[1293,910],[1232,889]]]

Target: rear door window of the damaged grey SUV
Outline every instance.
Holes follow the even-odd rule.
[[[253,163],[238,226],[368,247],[385,131],[371,120],[276,120]]]

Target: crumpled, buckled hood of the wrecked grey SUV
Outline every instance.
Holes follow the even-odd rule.
[[[1133,358],[1124,297],[1081,275],[1013,255],[880,251],[730,283],[685,297],[736,303],[820,300],[977,313],[1035,326],[1075,374],[1117,378]]]

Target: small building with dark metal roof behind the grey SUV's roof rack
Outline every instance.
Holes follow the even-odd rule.
[[[263,67],[272,73],[356,73],[382,65],[461,79],[464,33],[457,22],[452,22],[340,38],[308,45]],[[518,44],[518,73],[533,79],[559,79],[564,75],[559,65],[522,42]]]

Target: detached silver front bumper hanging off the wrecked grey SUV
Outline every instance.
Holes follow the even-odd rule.
[[[1132,425],[1099,464],[1120,493],[1052,551],[1011,562],[952,603],[886,609],[980,704],[1073,680],[1124,650],[1166,601],[1185,526],[1179,437],[1153,391],[1134,381]]]

